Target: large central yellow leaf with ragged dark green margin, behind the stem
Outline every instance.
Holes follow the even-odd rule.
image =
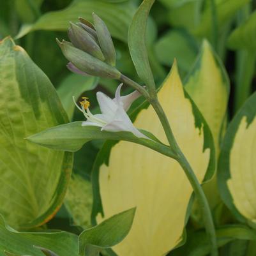
[[[158,98],[179,146],[202,183],[215,168],[213,139],[183,91],[176,64]],[[138,114],[134,124],[167,142],[151,106]],[[109,142],[94,164],[93,187],[93,216],[97,222],[128,207],[137,207],[130,233],[113,248],[118,255],[161,256],[183,239],[192,187],[176,161],[140,145],[118,142],[113,146]]]

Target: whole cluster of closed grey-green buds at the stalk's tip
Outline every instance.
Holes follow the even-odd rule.
[[[121,73],[115,68],[116,50],[109,30],[100,17],[93,13],[94,25],[79,18],[76,24],[70,22],[68,41],[57,43],[70,63],[67,67],[80,75],[93,75],[119,79]]]

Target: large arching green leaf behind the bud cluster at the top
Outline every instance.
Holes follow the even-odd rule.
[[[109,3],[100,0],[73,1],[68,8],[51,11],[42,15],[30,27],[22,27],[17,38],[35,30],[66,31],[69,22],[77,22],[78,17],[93,21],[91,13],[96,13],[107,24],[110,33],[115,38],[127,41],[128,27],[132,20],[135,6],[132,2]]]

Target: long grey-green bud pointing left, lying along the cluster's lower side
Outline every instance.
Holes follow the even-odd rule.
[[[100,59],[91,56],[87,52],[73,47],[71,43],[64,40],[62,42],[57,40],[57,43],[61,47],[64,56],[81,72],[109,79],[119,79],[121,77],[121,73],[116,68],[100,61]]]

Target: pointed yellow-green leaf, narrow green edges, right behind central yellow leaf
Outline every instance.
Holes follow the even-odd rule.
[[[206,40],[184,86],[211,129],[218,156],[229,100],[229,77],[222,61]]]

